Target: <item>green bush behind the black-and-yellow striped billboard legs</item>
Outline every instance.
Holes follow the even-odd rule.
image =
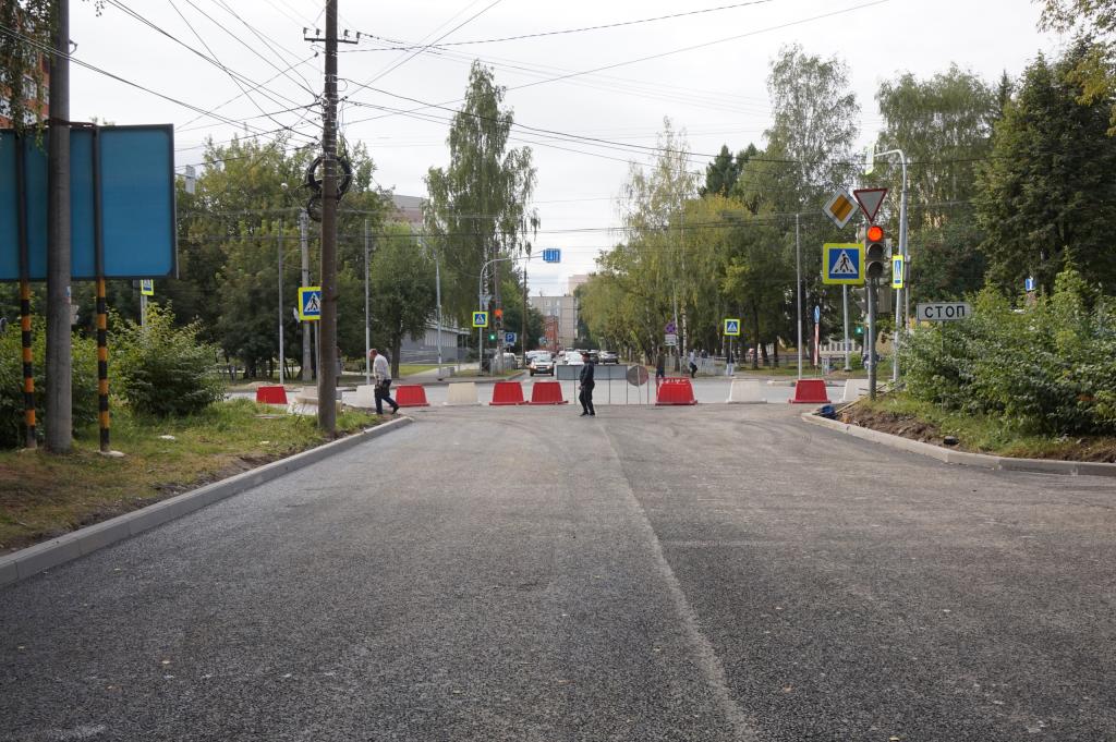
[[[75,434],[97,422],[97,344],[94,339],[74,335],[71,418]],[[0,447],[16,449],[23,445],[23,350],[19,324],[13,322],[0,333]],[[31,345],[35,374],[35,408],[37,434],[42,440],[47,408],[46,357],[47,338],[44,326],[37,320]]]

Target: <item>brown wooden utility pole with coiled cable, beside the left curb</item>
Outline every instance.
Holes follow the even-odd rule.
[[[326,99],[321,131],[321,329],[318,427],[337,430],[337,0],[326,0]]]

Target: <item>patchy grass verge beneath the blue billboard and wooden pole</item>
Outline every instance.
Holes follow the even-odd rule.
[[[338,433],[378,424],[346,411]],[[174,436],[174,440],[161,436]],[[202,484],[325,442],[316,418],[247,399],[218,403],[191,417],[153,420],[113,413],[113,449],[97,452],[97,428],[81,431],[67,455],[0,452],[0,553],[137,510]]]

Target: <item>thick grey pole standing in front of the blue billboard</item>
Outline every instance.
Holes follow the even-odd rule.
[[[69,0],[55,0],[47,221],[47,449],[74,444],[70,339]],[[107,413],[106,413],[107,414]],[[107,450],[107,449],[106,449]]]

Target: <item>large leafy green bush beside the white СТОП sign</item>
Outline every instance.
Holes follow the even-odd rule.
[[[1116,317],[1067,270],[1023,309],[985,289],[973,316],[920,328],[902,350],[907,389],[947,409],[1000,414],[1022,433],[1116,432]]]

